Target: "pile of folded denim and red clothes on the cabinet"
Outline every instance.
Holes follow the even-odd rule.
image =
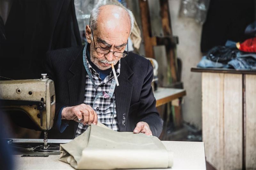
[[[256,21],[246,30],[256,32]],[[256,37],[243,43],[227,41],[225,46],[215,46],[207,52],[197,67],[203,68],[234,68],[236,70],[256,70]]]

